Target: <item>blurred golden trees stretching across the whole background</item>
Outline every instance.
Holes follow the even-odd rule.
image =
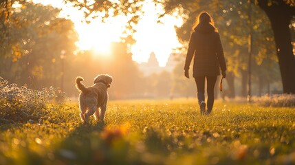
[[[223,49],[228,63],[225,91],[221,95],[229,98],[245,97],[248,80],[248,34],[252,31],[252,88],[254,94],[283,92],[281,73],[278,67],[274,33],[269,18],[259,5],[251,4],[252,25],[250,25],[247,0],[240,1],[156,1],[162,3],[165,11],[159,15],[180,10],[184,24],[177,28],[179,41],[184,45],[182,54],[172,54],[178,61],[173,72],[161,72],[144,76],[138,64],[132,61],[127,47],[132,39],[135,25],[142,14],[142,0],[120,1],[74,1],[85,18],[97,17],[94,12],[110,11],[130,16],[124,43],[113,43],[111,56],[93,56],[94,52],[77,52],[75,45],[78,34],[72,21],[58,17],[60,10],[50,5],[30,1],[1,1],[0,12],[0,76],[11,83],[27,85],[32,89],[59,87],[69,97],[78,96],[74,87],[76,76],[85,78],[85,85],[92,85],[97,74],[113,76],[109,92],[113,99],[126,98],[174,98],[195,97],[193,78],[184,78],[184,56],[191,28],[201,11],[208,11],[215,19],[221,35]],[[13,4],[21,4],[13,7]],[[269,4],[271,5],[271,4]],[[289,1],[294,9],[294,1]],[[289,30],[295,43],[295,18],[291,18]],[[103,19],[102,19],[103,21]],[[217,89],[218,90],[218,89]]]

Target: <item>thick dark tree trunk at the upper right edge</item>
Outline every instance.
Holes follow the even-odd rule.
[[[283,1],[277,2],[278,4],[267,6],[267,2],[259,1],[259,6],[267,14],[272,25],[272,30],[274,31],[283,93],[295,94],[295,58],[289,30],[289,24],[295,10]]]

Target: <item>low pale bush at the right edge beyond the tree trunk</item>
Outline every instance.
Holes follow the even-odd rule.
[[[294,94],[276,94],[254,98],[254,102],[265,107],[295,107]]]

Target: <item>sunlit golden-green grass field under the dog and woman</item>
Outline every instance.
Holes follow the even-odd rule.
[[[78,104],[1,123],[0,164],[295,164],[295,109],[196,100],[109,102],[105,124]]]

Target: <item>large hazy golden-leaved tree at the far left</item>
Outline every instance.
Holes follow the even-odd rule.
[[[1,31],[6,37],[0,42],[1,76],[32,88],[61,80],[61,52],[70,58],[76,34],[72,21],[59,19],[58,14],[55,8],[34,3],[10,8],[9,15],[1,19],[1,30],[6,31]]]

